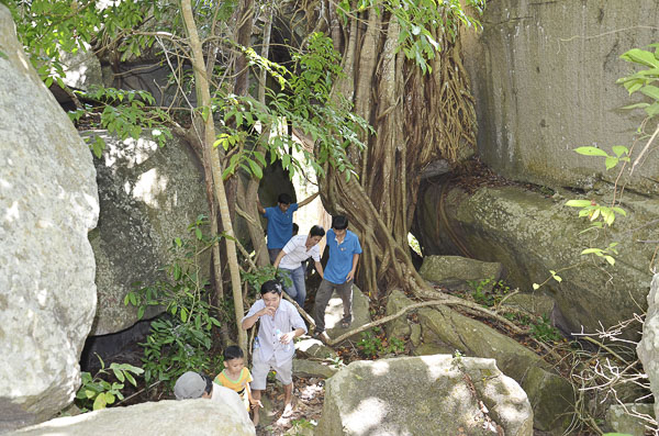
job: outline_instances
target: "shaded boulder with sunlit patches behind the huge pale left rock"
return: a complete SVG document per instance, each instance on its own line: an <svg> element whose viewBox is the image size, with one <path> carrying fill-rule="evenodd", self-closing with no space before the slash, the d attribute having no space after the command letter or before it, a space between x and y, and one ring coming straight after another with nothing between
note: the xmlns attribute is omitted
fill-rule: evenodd
<svg viewBox="0 0 659 436"><path fill-rule="evenodd" d="M108 144L102 159L94 159L101 215L90 235L99 293L92 334L104 335L137 321L136 308L125 306L124 297L134 282L147 286L161 278L158 268L172 260L172 239L187 236L188 225L209 213L202 170L186 144L171 141L159 148L148 137L121 142L104 132L91 134ZM200 259L205 270L208 259Z"/></svg>

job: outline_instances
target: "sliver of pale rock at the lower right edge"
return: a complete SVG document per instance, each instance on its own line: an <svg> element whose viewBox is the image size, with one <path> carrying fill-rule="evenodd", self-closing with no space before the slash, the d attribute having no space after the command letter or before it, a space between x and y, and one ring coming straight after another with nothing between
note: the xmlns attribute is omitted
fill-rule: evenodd
<svg viewBox="0 0 659 436"><path fill-rule="evenodd" d="M659 398L659 273L652 278L648 293L648 312L643 325L643 338L636 347L643 368L650 379L650 390ZM659 401L655 401L655 416L659 416Z"/></svg>

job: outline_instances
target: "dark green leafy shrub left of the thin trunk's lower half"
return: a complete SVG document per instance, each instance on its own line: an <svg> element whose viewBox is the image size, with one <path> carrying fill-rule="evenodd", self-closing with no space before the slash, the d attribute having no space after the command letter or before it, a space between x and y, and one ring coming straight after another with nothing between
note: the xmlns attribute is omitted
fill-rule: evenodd
<svg viewBox="0 0 659 436"><path fill-rule="evenodd" d="M220 327L217 309L210 303L209 281L201 276L200 255L214 241L203 234L208 224L200 215L188 227L187 238L175 238L175 261L165 267L166 280L129 292L124 304L138 308L142 317L148 306L164 306L166 315L152 322L144 344L144 378L171 384L181 373L214 372L221 360L211 356L212 327Z"/></svg>

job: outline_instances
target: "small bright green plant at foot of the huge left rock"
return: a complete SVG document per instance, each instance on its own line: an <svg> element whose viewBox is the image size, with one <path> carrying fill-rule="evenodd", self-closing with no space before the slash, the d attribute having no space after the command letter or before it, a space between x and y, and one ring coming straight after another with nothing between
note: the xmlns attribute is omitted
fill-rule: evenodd
<svg viewBox="0 0 659 436"><path fill-rule="evenodd" d="M124 382L127 380L129 383L136 387L137 382L134 376L139 376L144 372L142 368L130 364L112 362L105 369L103 359L99 355L97 357L101 362L101 369L93 377L89 372L82 372L82 384L76 393L76 404L82 411L98 411L114 404L116 399L123 400L124 396L121 390L124 389ZM114 376L118 381L110 382L105 380L108 376Z"/></svg>

